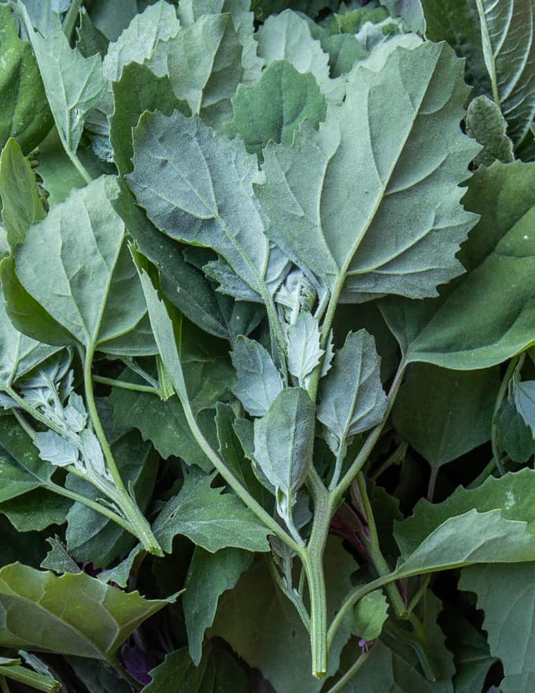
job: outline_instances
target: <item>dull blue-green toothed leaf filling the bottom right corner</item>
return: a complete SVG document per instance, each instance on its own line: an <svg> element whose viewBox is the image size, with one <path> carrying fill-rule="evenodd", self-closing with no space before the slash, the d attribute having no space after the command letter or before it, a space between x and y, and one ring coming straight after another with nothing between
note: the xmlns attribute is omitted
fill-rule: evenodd
<svg viewBox="0 0 535 693"><path fill-rule="evenodd" d="M478 595L491 654L502 660L503 693L529 693L535 681L534 585L534 563L477 565L461 573L459 588Z"/></svg>

